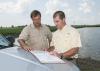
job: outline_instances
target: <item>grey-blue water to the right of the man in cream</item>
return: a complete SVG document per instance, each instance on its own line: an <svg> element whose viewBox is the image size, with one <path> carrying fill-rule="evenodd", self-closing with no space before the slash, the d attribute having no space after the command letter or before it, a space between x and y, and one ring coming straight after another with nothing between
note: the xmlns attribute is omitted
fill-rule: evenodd
<svg viewBox="0 0 100 71"><path fill-rule="evenodd" d="M79 57L100 60L100 27L81 28L78 30L82 41ZM15 41L15 43L19 45L18 42Z"/></svg>

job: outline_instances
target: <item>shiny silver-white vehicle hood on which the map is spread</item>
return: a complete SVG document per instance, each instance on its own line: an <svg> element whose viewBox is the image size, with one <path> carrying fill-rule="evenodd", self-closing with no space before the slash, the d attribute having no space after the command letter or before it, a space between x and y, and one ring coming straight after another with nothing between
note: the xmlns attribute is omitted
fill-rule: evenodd
<svg viewBox="0 0 100 71"><path fill-rule="evenodd" d="M8 43L1 37L4 46ZM1 45L1 44L0 44ZM2 45L2 46L3 46ZM1 47L0 48L4 48ZM18 46L0 49L0 71L80 71L72 62L66 63L40 63L32 53Z"/></svg>

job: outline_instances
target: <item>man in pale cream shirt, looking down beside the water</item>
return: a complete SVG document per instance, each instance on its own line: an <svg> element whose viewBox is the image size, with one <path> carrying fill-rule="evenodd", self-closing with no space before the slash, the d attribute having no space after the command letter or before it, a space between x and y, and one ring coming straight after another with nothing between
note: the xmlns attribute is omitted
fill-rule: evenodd
<svg viewBox="0 0 100 71"><path fill-rule="evenodd" d="M53 33L51 47L48 51L51 50L51 54L60 58L76 57L79 48L82 47L79 32L67 25L64 12L55 12L53 19L58 30Z"/></svg>

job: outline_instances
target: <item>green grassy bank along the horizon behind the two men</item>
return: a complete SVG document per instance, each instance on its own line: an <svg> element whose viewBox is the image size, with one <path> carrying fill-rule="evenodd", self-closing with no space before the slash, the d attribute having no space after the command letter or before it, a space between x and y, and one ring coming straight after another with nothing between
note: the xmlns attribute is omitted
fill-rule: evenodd
<svg viewBox="0 0 100 71"><path fill-rule="evenodd" d="M47 26L50 28L51 32L54 32L57 30L56 26L50 26L50 25L47 25ZM4 36L7 36L7 35L18 36L24 27L25 26L1 27L0 34ZM72 25L72 27L78 29L78 28L85 28L85 27L100 27L100 25Z"/></svg>

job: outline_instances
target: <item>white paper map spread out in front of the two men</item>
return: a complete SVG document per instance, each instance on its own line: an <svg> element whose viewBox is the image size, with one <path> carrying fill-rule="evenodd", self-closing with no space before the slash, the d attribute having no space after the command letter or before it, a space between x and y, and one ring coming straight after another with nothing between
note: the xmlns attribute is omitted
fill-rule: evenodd
<svg viewBox="0 0 100 71"><path fill-rule="evenodd" d="M47 51L31 51L41 63L65 63L60 58L50 55Z"/></svg>

